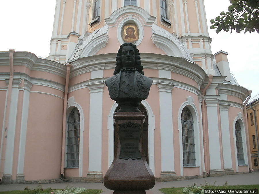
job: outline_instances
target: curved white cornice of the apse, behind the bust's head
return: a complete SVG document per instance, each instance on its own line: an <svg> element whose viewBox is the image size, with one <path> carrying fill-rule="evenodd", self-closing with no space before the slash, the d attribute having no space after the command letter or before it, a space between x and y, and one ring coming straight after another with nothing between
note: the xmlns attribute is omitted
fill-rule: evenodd
<svg viewBox="0 0 259 194"><path fill-rule="evenodd" d="M155 53L140 53L141 63L148 69L168 70L191 78L197 83L205 80L206 73L197 64L182 57L172 57ZM71 62L70 79L83 73L97 69L114 69L116 53L83 57ZM216 79L216 78L215 78Z"/></svg>

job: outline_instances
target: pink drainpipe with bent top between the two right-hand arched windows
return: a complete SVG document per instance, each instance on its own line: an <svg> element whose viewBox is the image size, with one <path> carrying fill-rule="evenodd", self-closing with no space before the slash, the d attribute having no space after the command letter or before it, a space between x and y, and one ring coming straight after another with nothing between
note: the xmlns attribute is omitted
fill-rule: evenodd
<svg viewBox="0 0 259 194"><path fill-rule="evenodd" d="M204 94L205 91L208 89L212 82L213 75L208 75L209 77L209 83L206 85L206 87L202 90L202 101L201 101L201 115L202 115L202 131L203 131L203 149L204 149L204 166L206 171L206 176L208 175L207 172L207 142L206 142L206 128L205 128L205 105L204 105Z"/></svg>

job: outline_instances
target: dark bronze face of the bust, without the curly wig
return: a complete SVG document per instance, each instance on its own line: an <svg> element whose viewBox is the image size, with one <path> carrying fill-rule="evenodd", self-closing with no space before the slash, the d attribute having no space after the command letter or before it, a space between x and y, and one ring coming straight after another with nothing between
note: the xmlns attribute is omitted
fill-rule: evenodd
<svg viewBox="0 0 259 194"><path fill-rule="evenodd" d="M122 67L134 67L135 66L135 51L132 46L124 46L121 50L121 62Z"/></svg>

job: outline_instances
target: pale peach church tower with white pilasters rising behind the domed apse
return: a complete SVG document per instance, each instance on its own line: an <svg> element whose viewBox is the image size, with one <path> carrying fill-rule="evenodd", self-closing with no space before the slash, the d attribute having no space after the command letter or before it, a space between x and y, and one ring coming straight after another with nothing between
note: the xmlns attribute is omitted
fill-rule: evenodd
<svg viewBox="0 0 259 194"><path fill-rule="evenodd" d="M57 0L48 59L66 63L78 43L127 5L154 16L154 24L178 37L195 63L215 74L203 0Z"/></svg>

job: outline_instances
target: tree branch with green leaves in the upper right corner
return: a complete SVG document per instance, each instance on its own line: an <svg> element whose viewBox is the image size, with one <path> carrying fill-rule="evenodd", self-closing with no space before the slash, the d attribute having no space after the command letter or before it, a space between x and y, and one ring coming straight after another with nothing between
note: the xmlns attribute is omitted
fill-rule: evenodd
<svg viewBox="0 0 259 194"><path fill-rule="evenodd" d="M210 20L210 29L216 32L232 30L259 33L259 0L230 0L228 11L222 11L215 20Z"/></svg>

